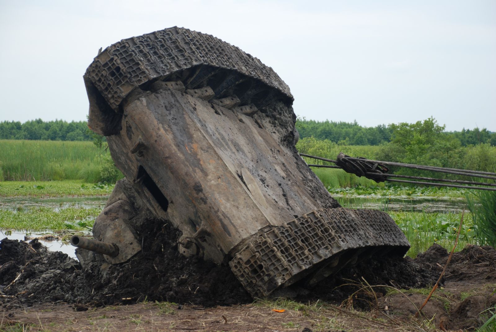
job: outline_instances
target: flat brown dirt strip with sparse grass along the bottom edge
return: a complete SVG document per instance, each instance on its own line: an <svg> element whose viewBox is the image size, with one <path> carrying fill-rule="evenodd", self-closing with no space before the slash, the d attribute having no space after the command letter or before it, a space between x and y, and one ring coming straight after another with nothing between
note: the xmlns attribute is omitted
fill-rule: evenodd
<svg viewBox="0 0 496 332"><path fill-rule="evenodd" d="M264 305L202 308L141 303L75 311L72 305L45 305L4 313L3 331L422 331L424 319L400 320L384 311L357 312L328 305L305 305L274 312ZM424 325L424 329L422 326Z"/></svg>

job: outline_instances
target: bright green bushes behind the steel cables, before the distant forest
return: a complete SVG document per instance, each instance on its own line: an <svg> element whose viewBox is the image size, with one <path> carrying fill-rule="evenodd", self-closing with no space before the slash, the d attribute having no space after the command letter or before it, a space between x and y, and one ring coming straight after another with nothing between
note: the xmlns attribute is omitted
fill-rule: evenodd
<svg viewBox="0 0 496 332"><path fill-rule="evenodd" d="M333 142L330 139L318 139L314 136L303 137L298 141L297 148L302 153L316 155L324 158L335 159L337 153L344 152L353 157L366 157L375 160L386 160L417 165L430 165L437 167L450 167L460 169L475 169L494 172L496 167L496 146L489 141L477 143L475 130L446 133L444 126L437 123L434 118L418 121L414 124L400 123L388 126L391 130L390 140L372 148L371 145L346 146ZM479 133L488 133L479 130ZM464 133L464 135L460 135ZM474 134L474 136L472 136ZM489 136L494 135L490 133ZM460 138L465 140L463 146ZM473 140L470 140L473 139ZM472 142L475 142L473 144ZM365 148L365 150L364 150ZM312 160L313 163L320 163ZM429 171L388 167L390 173L439 177ZM460 178L456 175L446 174L446 178ZM464 179L467 180L467 179Z"/></svg>

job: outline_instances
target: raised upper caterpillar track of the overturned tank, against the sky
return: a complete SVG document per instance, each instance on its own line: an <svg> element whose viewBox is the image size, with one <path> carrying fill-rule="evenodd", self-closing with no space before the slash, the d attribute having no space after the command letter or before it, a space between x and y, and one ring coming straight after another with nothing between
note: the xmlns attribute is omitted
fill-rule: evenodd
<svg viewBox="0 0 496 332"><path fill-rule="evenodd" d="M237 95L241 105L293 102L288 85L260 60L212 35L172 27L107 47L85 78L114 111L133 89L157 80L181 80L186 89L213 88L216 98Z"/></svg>

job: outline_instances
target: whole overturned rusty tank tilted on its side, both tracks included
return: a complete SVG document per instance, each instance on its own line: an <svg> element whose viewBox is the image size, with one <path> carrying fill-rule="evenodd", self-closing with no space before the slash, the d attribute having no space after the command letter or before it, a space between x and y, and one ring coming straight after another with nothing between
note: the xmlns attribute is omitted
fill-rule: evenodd
<svg viewBox="0 0 496 332"><path fill-rule="evenodd" d="M252 296L408 250L389 215L328 194L295 148L288 86L237 47L173 27L108 47L84 80L88 125L125 175L93 228L109 263L140 251L134 229L152 217L182 232L182 254L229 264Z"/></svg>

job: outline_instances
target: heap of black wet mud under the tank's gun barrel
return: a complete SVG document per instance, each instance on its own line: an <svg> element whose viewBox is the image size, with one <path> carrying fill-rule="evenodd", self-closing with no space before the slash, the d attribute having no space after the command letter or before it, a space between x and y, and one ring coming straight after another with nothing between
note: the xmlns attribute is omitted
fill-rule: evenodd
<svg viewBox="0 0 496 332"><path fill-rule="evenodd" d="M9 305L66 302L91 305L148 300L203 306L248 303L251 297L228 266L185 258L177 250L179 232L156 220L147 223L151 242L126 263L103 259L85 265L61 252L4 239L0 243L0 291ZM101 268L108 266L108 268ZM15 282L14 282L15 280Z"/></svg>

